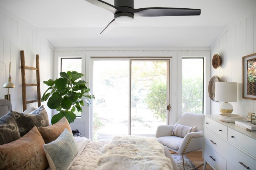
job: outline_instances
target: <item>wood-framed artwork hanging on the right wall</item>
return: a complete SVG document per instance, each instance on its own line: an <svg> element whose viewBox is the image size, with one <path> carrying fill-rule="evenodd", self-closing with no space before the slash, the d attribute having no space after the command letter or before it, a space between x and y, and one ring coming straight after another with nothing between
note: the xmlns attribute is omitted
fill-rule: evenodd
<svg viewBox="0 0 256 170"><path fill-rule="evenodd" d="M256 100L256 53L243 57L243 99Z"/></svg>

